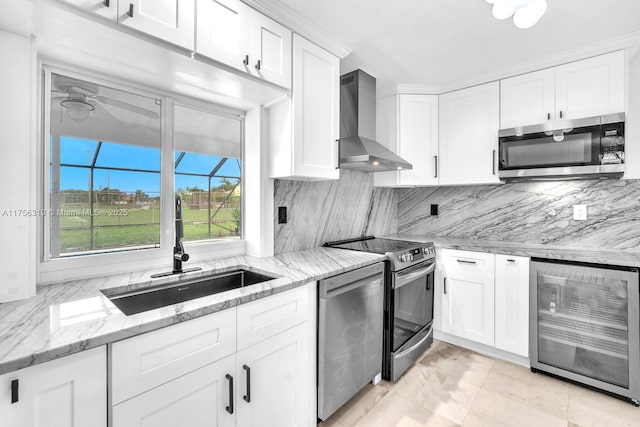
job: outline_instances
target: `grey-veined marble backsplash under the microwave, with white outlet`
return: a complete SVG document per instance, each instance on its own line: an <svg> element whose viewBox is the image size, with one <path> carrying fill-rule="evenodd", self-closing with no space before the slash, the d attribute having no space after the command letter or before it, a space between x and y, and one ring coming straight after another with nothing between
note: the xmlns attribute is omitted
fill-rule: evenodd
<svg viewBox="0 0 640 427"><path fill-rule="evenodd" d="M584 249L640 250L640 181L399 189L398 232ZM430 215L437 204L439 215ZM587 220L573 206L587 206Z"/></svg>

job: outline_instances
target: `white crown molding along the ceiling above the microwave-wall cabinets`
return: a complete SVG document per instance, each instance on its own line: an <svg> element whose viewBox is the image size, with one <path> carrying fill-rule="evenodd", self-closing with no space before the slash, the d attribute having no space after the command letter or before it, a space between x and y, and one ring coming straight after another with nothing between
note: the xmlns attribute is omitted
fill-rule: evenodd
<svg viewBox="0 0 640 427"><path fill-rule="evenodd" d="M602 55L616 50L627 49L630 52L636 51L640 46L640 31L625 34L619 37L602 40L579 48L566 50L553 55L544 56L531 61L522 62L509 67L503 67L488 73L480 74L471 79L457 80L444 83L439 86L439 94L452 92L492 81L513 77L544 68L555 67L568 62L579 61L592 56ZM400 86L400 85L398 85Z"/></svg>

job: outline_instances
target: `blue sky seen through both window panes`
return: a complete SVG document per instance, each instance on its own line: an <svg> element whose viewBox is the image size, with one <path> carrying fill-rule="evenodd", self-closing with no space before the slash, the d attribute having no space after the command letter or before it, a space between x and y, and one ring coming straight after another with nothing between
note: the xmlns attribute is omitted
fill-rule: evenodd
<svg viewBox="0 0 640 427"><path fill-rule="evenodd" d="M88 166L98 147L97 141L62 137L60 138L60 163ZM180 153L175 153L175 159ZM176 190L197 186L206 189L208 178L179 175L180 172L208 174L221 160L220 157L187 153L180 161L175 177ZM144 169L154 172L130 172L97 169L94 172L94 190L102 188L119 189L126 193L142 190L150 196L160 193L160 149L103 142L96 161L96 167L108 166L128 169ZM87 190L89 186L88 168L62 167L60 176L61 190ZM217 172L222 176L240 176L238 159L229 159ZM213 179L212 186L220 180ZM232 180L232 182L234 182Z"/></svg>

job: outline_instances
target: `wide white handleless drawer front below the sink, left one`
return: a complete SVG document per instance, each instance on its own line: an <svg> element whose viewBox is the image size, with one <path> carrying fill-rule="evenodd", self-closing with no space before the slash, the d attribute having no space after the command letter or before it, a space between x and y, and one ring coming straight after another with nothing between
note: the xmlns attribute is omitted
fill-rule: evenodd
<svg viewBox="0 0 640 427"><path fill-rule="evenodd" d="M112 402L116 405L235 350L235 308L115 342Z"/></svg>

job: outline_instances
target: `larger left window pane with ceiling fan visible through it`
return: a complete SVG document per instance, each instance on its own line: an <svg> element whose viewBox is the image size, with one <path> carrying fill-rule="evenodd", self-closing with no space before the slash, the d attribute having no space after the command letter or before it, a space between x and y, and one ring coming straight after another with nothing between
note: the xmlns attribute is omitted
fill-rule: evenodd
<svg viewBox="0 0 640 427"><path fill-rule="evenodd" d="M160 245L160 104L51 74L50 258Z"/></svg>

